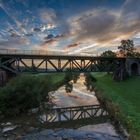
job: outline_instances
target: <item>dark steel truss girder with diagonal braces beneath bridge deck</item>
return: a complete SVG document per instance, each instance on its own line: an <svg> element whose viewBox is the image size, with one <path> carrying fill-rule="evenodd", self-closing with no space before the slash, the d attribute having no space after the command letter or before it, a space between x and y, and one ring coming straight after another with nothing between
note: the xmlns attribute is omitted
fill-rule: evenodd
<svg viewBox="0 0 140 140"><path fill-rule="evenodd" d="M30 61L30 64L29 64ZM38 62L39 61L39 62ZM125 60L120 58L106 59L100 57L2 57L0 56L0 68L12 73L21 72L64 72L67 69L77 72L106 72L114 71ZM51 68L50 68L51 67Z"/></svg>

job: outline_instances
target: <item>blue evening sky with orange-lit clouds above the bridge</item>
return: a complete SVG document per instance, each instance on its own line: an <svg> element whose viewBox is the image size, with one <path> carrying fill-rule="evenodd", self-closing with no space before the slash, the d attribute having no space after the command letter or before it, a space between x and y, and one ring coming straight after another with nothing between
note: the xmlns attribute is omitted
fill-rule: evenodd
<svg viewBox="0 0 140 140"><path fill-rule="evenodd" d="M60 53L140 50L140 0L0 0L0 49Z"/></svg>

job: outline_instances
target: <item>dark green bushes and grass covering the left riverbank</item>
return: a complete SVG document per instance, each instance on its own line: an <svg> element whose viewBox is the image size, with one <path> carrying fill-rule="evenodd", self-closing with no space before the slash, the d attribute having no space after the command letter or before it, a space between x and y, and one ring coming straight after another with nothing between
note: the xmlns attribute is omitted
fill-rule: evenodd
<svg viewBox="0 0 140 140"><path fill-rule="evenodd" d="M57 90L77 74L23 74L0 88L0 115L17 116L48 101L48 92Z"/></svg>

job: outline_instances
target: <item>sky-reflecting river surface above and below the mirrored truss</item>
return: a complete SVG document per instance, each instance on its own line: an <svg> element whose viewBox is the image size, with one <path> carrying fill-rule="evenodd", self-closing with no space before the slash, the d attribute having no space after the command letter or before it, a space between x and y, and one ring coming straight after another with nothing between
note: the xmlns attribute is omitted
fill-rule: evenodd
<svg viewBox="0 0 140 140"><path fill-rule="evenodd" d="M73 81L71 81L73 83ZM76 83L73 83L73 90L67 93L65 86L60 87L57 91L51 92L51 102L56 107L99 105L99 101L95 96L95 92L87 91L84 84L84 74L80 74ZM46 116L45 116L46 117ZM46 124L47 125L47 124ZM114 126L107 121L101 124L89 124L79 126L78 128L55 128L55 129L38 129L31 127L30 131L26 131L24 135L20 135L17 140L122 140L121 136L116 132ZM24 130L25 131L25 128ZM16 133L16 131L14 132ZM15 140L14 134L10 135L9 140ZM12 139L13 138L13 139ZM1 137L0 140L6 140Z"/></svg>

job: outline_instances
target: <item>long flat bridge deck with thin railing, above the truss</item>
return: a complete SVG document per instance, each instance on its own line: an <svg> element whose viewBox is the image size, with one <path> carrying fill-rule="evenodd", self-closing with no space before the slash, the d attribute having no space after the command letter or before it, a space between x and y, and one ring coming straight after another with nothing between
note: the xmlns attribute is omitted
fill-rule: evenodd
<svg viewBox="0 0 140 140"><path fill-rule="evenodd" d="M42 59L42 58L54 58L54 59L125 59L125 58L107 58L100 57L98 54L69 54L68 52L55 52L55 51L43 51L43 50L8 50L8 49L0 49L0 57L9 57L9 58L34 58L34 59Z"/></svg>

